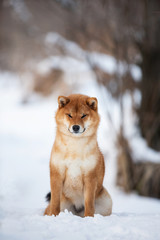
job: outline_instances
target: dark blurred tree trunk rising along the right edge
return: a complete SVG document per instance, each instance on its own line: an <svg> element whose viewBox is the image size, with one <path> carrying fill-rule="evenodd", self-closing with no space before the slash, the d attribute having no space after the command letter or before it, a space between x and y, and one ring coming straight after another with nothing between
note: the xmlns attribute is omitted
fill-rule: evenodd
<svg viewBox="0 0 160 240"><path fill-rule="evenodd" d="M145 37L139 45L142 55L139 123L148 145L160 150L160 2L144 2Z"/></svg>

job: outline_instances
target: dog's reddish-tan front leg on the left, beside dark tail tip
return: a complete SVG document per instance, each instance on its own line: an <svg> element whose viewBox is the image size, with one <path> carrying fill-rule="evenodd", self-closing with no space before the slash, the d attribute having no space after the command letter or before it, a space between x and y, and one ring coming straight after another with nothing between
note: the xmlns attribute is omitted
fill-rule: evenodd
<svg viewBox="0 0 160 240"><path fill-rule="evenodd" d="M60 213L62 177L54 166L50 167L50 184L51 184L51 202L49 215L54 214L56 216Z"/></svg>

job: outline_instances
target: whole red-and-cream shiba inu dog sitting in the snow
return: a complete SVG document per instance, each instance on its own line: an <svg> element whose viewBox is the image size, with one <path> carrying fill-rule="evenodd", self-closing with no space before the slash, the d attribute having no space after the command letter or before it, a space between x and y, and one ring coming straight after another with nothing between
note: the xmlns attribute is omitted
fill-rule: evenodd
<svg viewBox="0 0 160 240"><path fill-rule="evenodd" d="M44 215L68 209L78 216L110 215L103 187L104 158L97 143L98 103L94 97L58 97L57 132L50 158L50 200Z"/></svg>

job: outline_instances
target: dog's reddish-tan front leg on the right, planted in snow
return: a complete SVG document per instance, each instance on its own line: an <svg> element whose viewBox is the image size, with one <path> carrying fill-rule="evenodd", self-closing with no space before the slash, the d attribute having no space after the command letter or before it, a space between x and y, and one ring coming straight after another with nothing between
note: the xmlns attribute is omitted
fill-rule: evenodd
<svg viewBox="0 0 160 240"><path fill-rule="evenodd" d="M84 182L84 201L85 201L85 212L84 216L94 216L95 212L95 191L96 191L96 180L90 175L85 178Z"/></svg>

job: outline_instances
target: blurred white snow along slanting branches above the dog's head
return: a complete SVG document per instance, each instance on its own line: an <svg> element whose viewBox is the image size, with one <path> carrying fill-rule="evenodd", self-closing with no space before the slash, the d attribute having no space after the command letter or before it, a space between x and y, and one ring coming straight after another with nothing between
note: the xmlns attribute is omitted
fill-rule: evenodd
<svg viewBox="0 0 160 240"><path fill-rule="evenodd" d="M120 76L123 76L129 70L136 82L139 82L141 80L141 69L137 65L128 65L124 61L117 62L114 57L107 54L85 51L78 44L66 40L58 33L49 32L45 37L45 45L47 48L59 47L60 49L63 49L63 52L65 52L66 55L70 56L70 58L68 59L66 56L49 57L39 63L39 70L43 69L43 66L45 66L45 71L47 70L46 66L48 66L49 69L51 67L56 68L57 61L62 61L62 64L59 64L58 68L64 70L64 64L67 62L65 65L67 66L66 71L70 71L70 69L73 69L74 71L81 71L81 65L83 65L84 68L86 66L87 69L96 66L104 72L107 72L109 74L118 73ZM76 65L72 63L70 64L69 61L76 62Z"/></svg>

